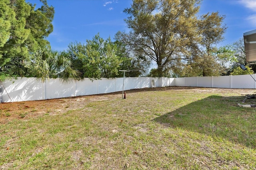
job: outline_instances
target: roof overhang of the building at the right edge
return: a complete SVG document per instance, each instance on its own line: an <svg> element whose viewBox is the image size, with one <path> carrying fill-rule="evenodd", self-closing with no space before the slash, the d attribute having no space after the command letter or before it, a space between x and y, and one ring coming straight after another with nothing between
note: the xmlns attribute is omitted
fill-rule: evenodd
<svg viewBox="0 0 256 170"><path fill-rule="evenodd" d="M246 62L256 64L256 30L244 33Z"/></svg>

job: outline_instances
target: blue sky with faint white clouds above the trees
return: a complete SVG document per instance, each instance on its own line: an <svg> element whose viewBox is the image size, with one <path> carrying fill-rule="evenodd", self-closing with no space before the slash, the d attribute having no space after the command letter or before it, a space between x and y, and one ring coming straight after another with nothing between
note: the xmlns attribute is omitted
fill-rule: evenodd
<svg viewBox="0 0 256 170"><path fill-rule="evenodd" d="M39 0L26 0L40 5ZM123 12L132 0L47 0L55 10L54 31L48 36L52 49L62 51L71 42L85 43L96 34L104 39L114 38L118 31L128 32ZM200 12L219 12L225 15L228 27L225 40L218 46L228 45L243 38L243 33L256 29L256 0L202 0Z"/></svg>

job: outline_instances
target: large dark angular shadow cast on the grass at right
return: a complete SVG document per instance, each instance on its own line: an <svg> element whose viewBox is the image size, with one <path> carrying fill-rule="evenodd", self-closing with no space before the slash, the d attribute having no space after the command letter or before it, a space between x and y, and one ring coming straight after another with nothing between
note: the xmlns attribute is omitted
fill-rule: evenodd
<svg viewBox="0 0 256 170"><path fill-rule="evenodd" d="M241 96L213 95L166 113L154 121L256 147L256 109L238 107L237 104L243 99Z"/></svg>

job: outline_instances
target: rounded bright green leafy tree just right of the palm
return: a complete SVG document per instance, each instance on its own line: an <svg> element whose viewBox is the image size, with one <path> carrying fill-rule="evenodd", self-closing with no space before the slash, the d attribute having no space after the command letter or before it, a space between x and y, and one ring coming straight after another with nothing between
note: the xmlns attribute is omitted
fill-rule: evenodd
<svg viewBox="0 0 256 170"><path fill-rule="evenodd" d="M110 38L104 40L99 34L86 40L86 44L70 43L68 53L81 78L116 77L123 62L117 44Z"/></svg>

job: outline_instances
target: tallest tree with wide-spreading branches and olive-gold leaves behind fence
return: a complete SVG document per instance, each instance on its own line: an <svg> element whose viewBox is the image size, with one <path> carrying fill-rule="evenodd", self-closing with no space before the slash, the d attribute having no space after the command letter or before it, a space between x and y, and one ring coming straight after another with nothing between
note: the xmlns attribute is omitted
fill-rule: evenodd
<svg viewBox="0 0 256 170"><path fill-rule="evenodd" d="M163 76L170 68L177 67L182 60L193 59L198 53L200 43L216 43L222 36L220 27L222 17L218 13L197 17L200 0L133 0L131 8L124 12L129 15L125 20L129 34L123 34L122 41L136 53L151 59L158 65L158 75ZM212 18L220 28L210 35L202 30L202 23ZM220 19L217 21L217 19ZM219 24L220 23L220 24ZM205 35L211 36L205 36ZM209 41L208 39L211 39Z"/></svg>

